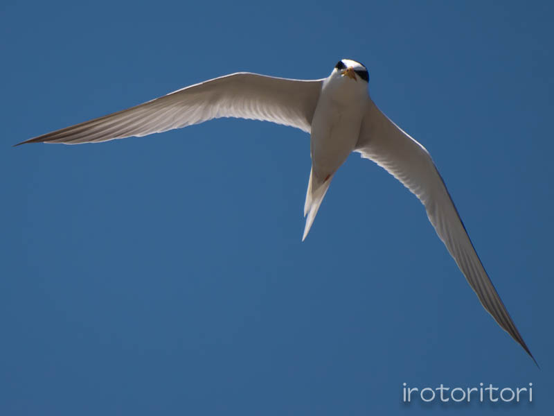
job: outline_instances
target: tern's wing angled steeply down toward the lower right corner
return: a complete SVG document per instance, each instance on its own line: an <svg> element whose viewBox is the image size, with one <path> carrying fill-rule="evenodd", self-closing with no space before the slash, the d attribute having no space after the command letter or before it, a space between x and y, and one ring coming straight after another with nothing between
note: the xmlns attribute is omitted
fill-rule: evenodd
<svg viewBox="0 0 554 416"><path fill-rule="evenodd" d="M533 358L467 235L427 150L370 101L355 151L400 180L425 206L433 227L492 318ZM535 358L533 358L534 360Z"/></svg>

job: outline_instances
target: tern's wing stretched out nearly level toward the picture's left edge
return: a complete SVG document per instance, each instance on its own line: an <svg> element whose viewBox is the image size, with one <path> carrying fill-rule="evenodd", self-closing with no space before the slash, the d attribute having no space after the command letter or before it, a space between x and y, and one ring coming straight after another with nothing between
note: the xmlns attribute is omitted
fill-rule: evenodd
<svg viewBox="0 0 554 416"><path fill-rule="evenodd" d="M233 73L20 144L79 144L145 136L220 117L273 121L310 132L322 83Z"/></svg>

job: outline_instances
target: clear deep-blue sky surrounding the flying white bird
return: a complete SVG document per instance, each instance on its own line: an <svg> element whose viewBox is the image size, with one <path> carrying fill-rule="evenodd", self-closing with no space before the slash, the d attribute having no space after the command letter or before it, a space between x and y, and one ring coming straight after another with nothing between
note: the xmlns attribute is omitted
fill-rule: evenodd
<svg viewBox="0 0 554 416"><path fill-rule="evenodd" d="M0 4L1 415L551 413L551 2ZM310 139L222 119L24 139L235 71L370 94L427 147L541 370L418 200L352 155L301 243ZM533 383L533 403L402 404Z"/></svg>

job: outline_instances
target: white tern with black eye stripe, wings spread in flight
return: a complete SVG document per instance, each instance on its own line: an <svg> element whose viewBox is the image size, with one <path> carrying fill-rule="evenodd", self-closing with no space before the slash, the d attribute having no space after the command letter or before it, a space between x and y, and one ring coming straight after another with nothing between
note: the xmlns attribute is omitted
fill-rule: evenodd
<svg viewBox="0 0 554 416"><path fill-rule="evenodd" d="M361 153L420 199L483 307L533 358L485 272L431 156L377 108L369 96L368 82L366 67L349 59L339 60L330 76L319 80L232 73L19 144L80 144L140 137L220 117L273 121L299 128L311 135L312 156L303 240L334 173L350 153Z"/></svg>

